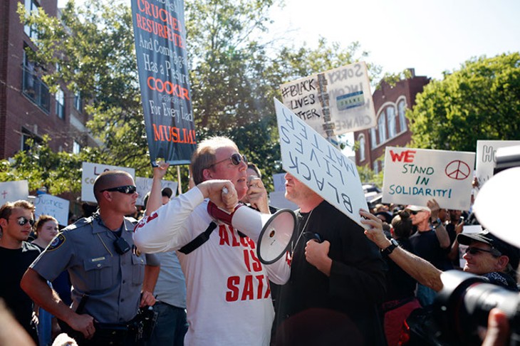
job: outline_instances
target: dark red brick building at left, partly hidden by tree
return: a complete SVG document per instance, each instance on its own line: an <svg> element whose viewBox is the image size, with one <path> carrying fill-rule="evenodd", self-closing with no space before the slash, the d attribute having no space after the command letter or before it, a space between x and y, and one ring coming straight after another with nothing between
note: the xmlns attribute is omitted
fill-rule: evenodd
<svg viewBox="0 0 520 346"><path fill-rule="evenodd" d="M27 58L24 48L35 49L31 38L36 32L20 23L19 2L27 11L42 6L47 14L59 15L57 0L0 1L0 159L26 149L28 137L38 142L49 135L54 151L77 153L95 145L85 128L88 117L80 95L63 85L50 93L41 80L44 68Z"/></svg>

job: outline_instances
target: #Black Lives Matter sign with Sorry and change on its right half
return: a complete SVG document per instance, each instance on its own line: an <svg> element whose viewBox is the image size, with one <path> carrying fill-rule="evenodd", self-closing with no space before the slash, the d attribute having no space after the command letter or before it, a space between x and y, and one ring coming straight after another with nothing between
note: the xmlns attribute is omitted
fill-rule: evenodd
<svg viewBox="0 0 520 346"><path fill-rule="evenodd" d="M333 135L374 127L375 108L364 62L280 85L284 105L323 137L330 113Z"/></svg>

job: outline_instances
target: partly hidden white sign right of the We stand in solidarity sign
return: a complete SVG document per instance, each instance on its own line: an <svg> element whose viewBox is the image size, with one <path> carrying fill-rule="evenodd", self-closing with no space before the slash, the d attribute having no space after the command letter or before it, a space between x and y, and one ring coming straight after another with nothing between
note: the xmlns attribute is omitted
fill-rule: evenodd
<svg viewBox="0 0 520 346"><path fill-rule="evenodd" d="M477 169L475 171L479 179L479 187L493 177L496 150L514 145L520 145L520 140L477 140Z"/></svg>

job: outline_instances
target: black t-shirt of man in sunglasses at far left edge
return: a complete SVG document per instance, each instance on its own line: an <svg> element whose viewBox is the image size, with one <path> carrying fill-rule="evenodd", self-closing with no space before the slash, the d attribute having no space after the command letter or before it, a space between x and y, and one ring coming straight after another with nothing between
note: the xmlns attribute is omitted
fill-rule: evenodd
<svg viewBox="0 0 520 346"><path fill-rule="evenodd" d="M31 330L33 302L21 289L20 281L39 254L38 246L26 241L17 249L0 246L0 297L4 298L7 308L26 330Z"/></svg>

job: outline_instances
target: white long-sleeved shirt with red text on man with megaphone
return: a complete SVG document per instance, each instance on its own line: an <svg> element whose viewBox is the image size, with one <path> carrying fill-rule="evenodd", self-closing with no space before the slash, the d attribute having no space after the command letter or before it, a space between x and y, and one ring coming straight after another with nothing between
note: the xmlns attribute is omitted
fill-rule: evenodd
<svg viewBox="0 0 520 346"><path fill-rule="evenodd" d="M146 253L177 250L207 229L212 218L196 187L137 224L134 241ZM256 243L219 224L192 253L177 251L186 278L186 345L269 345L274 308L269 279L283 284L290 268L282 257L269 266ZM269 277L268 277L269 276Z"/></svg>

